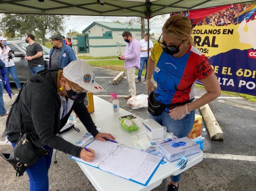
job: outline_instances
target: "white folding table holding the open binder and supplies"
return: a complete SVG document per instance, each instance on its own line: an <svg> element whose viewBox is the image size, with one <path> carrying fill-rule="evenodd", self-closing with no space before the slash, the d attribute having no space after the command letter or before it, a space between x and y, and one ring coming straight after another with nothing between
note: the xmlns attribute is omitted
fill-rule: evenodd
<svg viewBox="0 0 256 191"><path fill-rule="evenodd" d="M129 115L131 113L120 108L119 114L113 114L111 103L97 96L93 96L93 100L95 112L91 114L91 117L95 125L97 127L102 128L100 132L111 133L116 138L115 140L119 143L123 143L124 146L141 150L140 146L133 144L133 142L127 135L126 131L118 123L118 117ZM138 119L142 120L141 118ZM61 134L61 137L74 144L79 138L82 138L82 136L87 132L87 130L79 120L77 120L75 127L78 127L80 129L80 132L71 129L70 131ZM203 159L203 152L200 150L199 153L191 155L187 158L187 166L182 170L175 166L175 164L178 161L172 162L164 166L160 165L147 186L137 184L130 180L121 178L114 174L105 172L103 170L91 167L80 162L77 162L77 164L83 170L83 172L85 173L85 175L97 191L149 191L159 186L162 183L162 181L163 188L164 190L166 190L166 178L170 175L178 175L179 173L201 162Z"/></svg>

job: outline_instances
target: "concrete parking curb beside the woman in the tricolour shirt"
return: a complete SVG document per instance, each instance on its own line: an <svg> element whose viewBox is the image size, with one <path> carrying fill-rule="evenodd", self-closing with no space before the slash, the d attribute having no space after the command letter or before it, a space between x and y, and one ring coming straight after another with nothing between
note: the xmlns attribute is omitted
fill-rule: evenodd
<svg viewBox="0 0 256 191"><path fill-rule="evenodd" d="M223 132L208 104L199 108L211 141L223 141Z"/></svg>

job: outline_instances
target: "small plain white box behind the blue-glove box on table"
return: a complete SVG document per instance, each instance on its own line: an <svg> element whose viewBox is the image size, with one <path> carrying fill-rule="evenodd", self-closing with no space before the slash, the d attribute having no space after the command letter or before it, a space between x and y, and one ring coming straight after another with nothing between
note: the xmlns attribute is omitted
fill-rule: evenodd
<svg viewBox="0 0 256 191"><path fill-rule="evenodd" d="M145 119L142 124L144 131L151 140L164 138L164 127L154 119Z"/></svg>

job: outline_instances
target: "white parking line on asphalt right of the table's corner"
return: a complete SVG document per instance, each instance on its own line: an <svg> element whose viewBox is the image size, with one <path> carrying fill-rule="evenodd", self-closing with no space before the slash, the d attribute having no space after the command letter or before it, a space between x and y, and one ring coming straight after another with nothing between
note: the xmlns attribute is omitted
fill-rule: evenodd
<svg viewBox="0 0 256 191"><path fill-rule="evenodd" d="M203 153L203 158L208 159L228 159L228 160L240 160L240 161L256 161L254 156L245 156L245 155L229 155L229 154L211 154Z"/></svg>

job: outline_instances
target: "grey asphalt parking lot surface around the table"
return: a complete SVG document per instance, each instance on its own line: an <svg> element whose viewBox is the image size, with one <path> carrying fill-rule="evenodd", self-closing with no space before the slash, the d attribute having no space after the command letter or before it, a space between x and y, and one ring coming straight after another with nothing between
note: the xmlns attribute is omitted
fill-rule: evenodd
<svg viewBox="0 0 256 191"><path fill-rule="evenodd" d="M117 85L112 85L113 78L118 71L93 67L96 79L104 91L95 95L104 100L109 100L110 93L128 95L128 83L125 78ZM15 84L11 84L12 90L18 93ZM137 95L147 94L145 83L136 84ZM196 96L201 96L205 91L195 90ZM5 95L6 109L14 98ZM42 98L44 99L44 98ZM120 107L146 119L147 109L132 110L124 97L118 98ZM180 191L255 191L256 188L256 103L246 99L232 98L221 95L220 98L209 103L209 106L224 133L224 141L210 141L206 131L202 131L204 137L204 149L206 154L203 161L186 170L181 177ZM199 110L196 110L197 114ZM5 128L7 117L0 118L0 134ZM202 129L205 128L202 122ZM4 138L0 138L0 153L11 152L11 145L4 144ZM210 157L209 157L210 156ZM69 155L58 152L58 163L52 163L49 170L49 190L51 191L93 191L95 190L79 166ZM29 190L28 176L17 178L15 171L7 162L0 158L0 191L26 191ZM170 179L169 179L170 180ZM122 190L113 188L113 191ZM153 191L160 191L161 187Z"/></svg>

